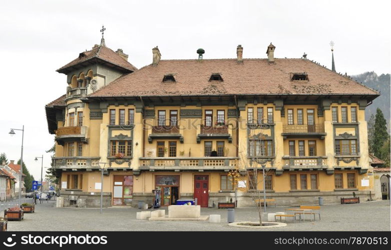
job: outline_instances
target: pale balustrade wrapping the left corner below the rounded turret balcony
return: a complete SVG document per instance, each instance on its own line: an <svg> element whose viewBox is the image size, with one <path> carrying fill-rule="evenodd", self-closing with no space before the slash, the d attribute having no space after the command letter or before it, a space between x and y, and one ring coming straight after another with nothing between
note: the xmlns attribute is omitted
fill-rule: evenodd
<svg viewBox="0 0 391 250"><path fill-rule="evenodd" d="M98 162L101 157L67 156L54 157L54 168L99 168Z"/></svg>

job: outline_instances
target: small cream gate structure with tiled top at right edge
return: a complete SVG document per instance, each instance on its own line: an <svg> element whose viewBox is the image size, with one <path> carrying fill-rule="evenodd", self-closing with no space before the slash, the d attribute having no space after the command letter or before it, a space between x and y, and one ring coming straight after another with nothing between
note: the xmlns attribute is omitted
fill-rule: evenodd
<svg viewBox="0 0 391 250"><path fill-rule="evenodd" d="M370 165L373 166L373 188L375 199L389 199L390 168L383 167L385 162L369 153Z"/></svg>

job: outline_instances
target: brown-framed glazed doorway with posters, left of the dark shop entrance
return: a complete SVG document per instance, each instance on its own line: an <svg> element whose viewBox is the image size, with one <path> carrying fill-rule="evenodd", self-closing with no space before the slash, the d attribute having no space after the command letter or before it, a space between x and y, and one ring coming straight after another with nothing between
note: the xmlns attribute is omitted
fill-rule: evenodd
<svg viewBox="0 0 391 250"><path fill-rule="evenodd" d="M114 175L113 205L132 205L133 175Z"/></svg>

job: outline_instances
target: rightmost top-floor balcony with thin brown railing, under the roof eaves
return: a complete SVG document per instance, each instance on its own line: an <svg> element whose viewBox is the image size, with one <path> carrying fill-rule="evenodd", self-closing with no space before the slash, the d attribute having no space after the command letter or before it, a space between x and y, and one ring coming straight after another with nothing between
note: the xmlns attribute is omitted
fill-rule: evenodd
<svg viewBox="0 0 391 250"><path fill-rule="evenodd" d="M324 124L283 124L281 135L287 137L320 137L324 139Z"/></svg>

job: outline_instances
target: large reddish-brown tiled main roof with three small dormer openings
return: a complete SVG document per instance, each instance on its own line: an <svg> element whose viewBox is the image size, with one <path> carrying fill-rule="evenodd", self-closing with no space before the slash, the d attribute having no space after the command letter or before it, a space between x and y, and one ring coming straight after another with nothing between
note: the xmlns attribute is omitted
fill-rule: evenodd
<svg viewBox="0 0 391 250"><path fill-rule="evenodd" d="M292 72L306 72L309 81L291 81ZM220 73L222 82L210 82ZM175 74L176 82L162 82L165 74ZM126 74L89 96L164 95L294 95L365 94L379 95L349 77L307 59L187 59L160 60Z"/></svg>

